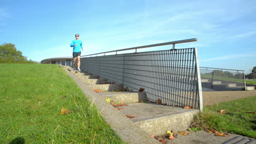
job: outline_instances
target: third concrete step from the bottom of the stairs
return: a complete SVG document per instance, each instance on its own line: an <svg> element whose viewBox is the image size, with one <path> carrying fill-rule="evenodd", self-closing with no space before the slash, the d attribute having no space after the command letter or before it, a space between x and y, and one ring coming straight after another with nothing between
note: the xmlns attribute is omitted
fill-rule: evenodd
<svg viewBox="0 0 256 144"><path fill-rule="evenodd" d="M95 84L95 85L86 85L92 89L99 89L101 91L117 91L123 87L123 84L116 83L116 84Z"/></svg>

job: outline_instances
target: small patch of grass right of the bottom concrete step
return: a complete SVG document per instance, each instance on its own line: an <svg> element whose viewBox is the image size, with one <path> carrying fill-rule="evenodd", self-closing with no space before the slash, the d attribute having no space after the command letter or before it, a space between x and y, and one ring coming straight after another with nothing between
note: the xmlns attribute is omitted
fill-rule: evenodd
<svg viewBox="0 0 256 144"><path fill-rule="evenodd" d="M256 137L256 96L205 106L192 127ZM225 114L220 111L224 110Z"/></svg>

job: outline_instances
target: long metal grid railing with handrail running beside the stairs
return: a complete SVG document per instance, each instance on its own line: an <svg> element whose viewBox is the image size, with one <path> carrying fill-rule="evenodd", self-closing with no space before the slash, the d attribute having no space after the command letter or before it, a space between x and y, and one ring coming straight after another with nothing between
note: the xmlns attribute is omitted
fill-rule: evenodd
<svg viewBox="0 0 256 144"><path fill-rule="evenodd" d="M197 39L131 47L82 56L82 70L104 79L123 83L133 91L144 88L150 101L161 99L171 106L193 106L202 110L200 69L196 48L174 49L175 44ZM173 45L170 50L137 52L137 49ZM135 50L118 54L118 51ZM116 52L115 55L105 55ZM104 54L104 56L98 56ZM92 57L94 56L94 57Z"/></svg>

